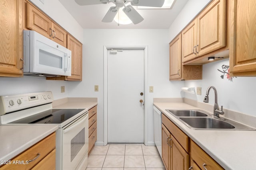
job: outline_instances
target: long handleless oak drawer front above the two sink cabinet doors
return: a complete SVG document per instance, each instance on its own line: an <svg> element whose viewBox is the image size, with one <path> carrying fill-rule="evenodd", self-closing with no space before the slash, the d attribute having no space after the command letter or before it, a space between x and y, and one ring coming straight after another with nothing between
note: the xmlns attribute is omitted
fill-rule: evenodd
<svg viewBox="0 0 256 170"><path fill-rule="evenodd" d="M189 152L189 137L182 132L170 119L168 119L164 114L162 114L162 123L170 131L170 133L176 138L178 143Z"/></svg>

